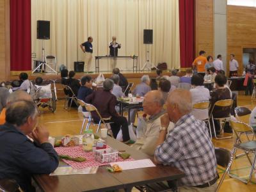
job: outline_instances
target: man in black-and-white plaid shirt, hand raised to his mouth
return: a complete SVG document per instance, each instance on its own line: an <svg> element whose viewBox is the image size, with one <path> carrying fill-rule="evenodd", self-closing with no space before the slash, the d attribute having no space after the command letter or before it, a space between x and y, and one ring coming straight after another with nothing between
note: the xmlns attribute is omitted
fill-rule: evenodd
<svg viewBox="0 0 256 192"><path fill-rule="evenodd" d="M178 180L179 191L215 191L216 157L207 125L191 115L192 99L188 90L177 89L166 102L161 118L155 161L170 164L186 174ZM169 123L174 129L166 136Z"/></svg>

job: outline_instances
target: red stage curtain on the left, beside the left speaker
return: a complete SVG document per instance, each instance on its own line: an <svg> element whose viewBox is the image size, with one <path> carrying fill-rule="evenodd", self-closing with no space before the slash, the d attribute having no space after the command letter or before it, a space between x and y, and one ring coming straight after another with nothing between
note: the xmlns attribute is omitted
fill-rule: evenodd
<svg viewBox="0 0 256 192"><path fill-rule="evenodd" d="M10 0L11 70L31 70L31 0Z"/></svg>

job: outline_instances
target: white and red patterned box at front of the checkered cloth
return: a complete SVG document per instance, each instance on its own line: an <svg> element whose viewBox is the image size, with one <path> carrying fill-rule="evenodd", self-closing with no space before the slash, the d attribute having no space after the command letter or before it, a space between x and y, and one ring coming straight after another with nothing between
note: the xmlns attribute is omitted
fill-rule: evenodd
<svg viewBox="0 0 256 192"><path fill-rule="evenodd" d="M118 157L118 151L113 148L104 148L95 150L95 160L100 163L115 162Z"/></svg>

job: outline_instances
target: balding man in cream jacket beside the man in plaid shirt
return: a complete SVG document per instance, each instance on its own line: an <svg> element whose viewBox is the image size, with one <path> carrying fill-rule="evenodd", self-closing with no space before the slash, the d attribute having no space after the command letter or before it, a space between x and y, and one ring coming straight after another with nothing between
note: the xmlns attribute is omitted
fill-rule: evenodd
<svg viewBox="0 0 256 192"><path fill-rule="evenodd" d="M145 118L145 126L142 127L143 130L141 130L142 134L136 143L132 145L132 148L141 150L141 152L144 152L149 156L154 155L156 141L159 137L161 128L160 118L166 113L163 109L163 105L164 99L161 92L154 90L145 95L143 100L143 111L149 115L149 117L147 119ZM137 129L139 129L139 127L137 127Z"/></svg>

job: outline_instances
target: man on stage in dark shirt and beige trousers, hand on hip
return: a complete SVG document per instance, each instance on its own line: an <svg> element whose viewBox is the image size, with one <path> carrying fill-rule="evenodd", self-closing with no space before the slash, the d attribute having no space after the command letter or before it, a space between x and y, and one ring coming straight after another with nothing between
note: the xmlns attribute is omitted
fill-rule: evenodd
<svg viewBox="0 0 256 192"><path fill-rule="evenodd" d="M80 45L81 49L85 53L84 67L85 67L85 70L87 70L87 72L89 72L91 68L91 63L92 63L92 52L93 52L92 42L93 42L93 38L92 36L89 36L88 41Z"/></svg>

